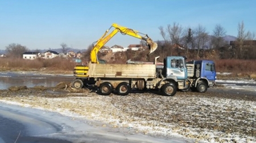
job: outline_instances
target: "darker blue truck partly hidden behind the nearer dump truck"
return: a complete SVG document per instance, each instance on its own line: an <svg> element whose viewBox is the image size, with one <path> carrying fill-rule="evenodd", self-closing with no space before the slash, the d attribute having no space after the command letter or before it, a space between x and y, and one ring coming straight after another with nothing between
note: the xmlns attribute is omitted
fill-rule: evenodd
<svg viewBox="0 0 256 143"><path fill-rule="evenodd" d="M212 60L192 60L186 63L186 67L189 86L181 91L188 92L191 89L204 93L209 87L214 86L216 70Z"/></svg>

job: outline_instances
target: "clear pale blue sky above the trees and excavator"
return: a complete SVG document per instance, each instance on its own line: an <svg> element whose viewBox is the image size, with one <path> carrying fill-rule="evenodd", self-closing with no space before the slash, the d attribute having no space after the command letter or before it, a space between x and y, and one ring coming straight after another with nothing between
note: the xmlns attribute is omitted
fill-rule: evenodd
<svg viewBox="0 0 256 143"><path fill-rule="evenodd" d="M256 1L234 0L0 0L0 49L21 44L28 49L56 49L61 43L86 49L117 23L163 40L159 27L174 22L183 28L203 25L212 34L216 24L237 36L238 23L256 32ZM118 33L106 46L139 44Z"/></svg>

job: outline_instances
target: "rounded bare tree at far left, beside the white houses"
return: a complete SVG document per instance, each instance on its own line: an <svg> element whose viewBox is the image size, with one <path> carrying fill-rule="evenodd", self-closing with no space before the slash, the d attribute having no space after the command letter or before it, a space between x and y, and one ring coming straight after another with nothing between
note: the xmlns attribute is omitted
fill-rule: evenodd
<svg viewBox="0 0 256 143"><path fill-rule="evenodd" d="M26 51L29 51L29 49L26 46L13 43L13 44L10 44L9 46L6 46L6 51L9 57L22 58L22 54Z"/></svg>

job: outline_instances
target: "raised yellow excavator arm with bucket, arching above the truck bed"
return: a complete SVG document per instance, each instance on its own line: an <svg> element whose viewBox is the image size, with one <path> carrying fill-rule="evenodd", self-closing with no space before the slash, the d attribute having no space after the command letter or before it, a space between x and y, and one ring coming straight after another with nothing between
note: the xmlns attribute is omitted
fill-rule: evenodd
<svg viewBox="0 0 256 143"><path fill-rule="evenodd" d="M111 28L114 28L114 30L111 33L109 33L109 30ZM146 41L146 44L150 49L150 53L148 54L151 54L158 47L158 45L154 41L152 41L150 37L147 36L147 34L143 34L133 29L122 27L118 24L113 23L112 26L109 29L107 29L106 32L101 36L101 38L96 42L96 44L93 45L93 49L90 52L90 60L92 63L99 63L97 59L98 51L106 44L106 42L108 42L118 32ZM141 36L141 34L143 36Z"/></svg>

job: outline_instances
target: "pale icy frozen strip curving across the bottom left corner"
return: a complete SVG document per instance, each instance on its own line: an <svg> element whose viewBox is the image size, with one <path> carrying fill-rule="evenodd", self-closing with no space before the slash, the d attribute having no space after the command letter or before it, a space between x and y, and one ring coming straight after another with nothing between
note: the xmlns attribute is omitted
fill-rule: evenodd
<svg viewBox="0 0 256 143"><path fill-rule="evenodd" d="M20 108L19 103L1 103L0 115L12 120L18 120L18 122L24 124L26 128L24 131L20 132L26 132L28 135L38 138L37 140L34 139L32 142L48 142L46 138L59 138L76 143L187 142L179 138L172 138L172 140L167 141L164 138L154 138L146 135L135 135L117 131L112 132L108 127L98 127L96 123L92 125L88 120L80 118L79 115L71 112L59 114L57 112L30 107ZM14 135L15 138L17 136L18 133ZM26 140L26 138L26 136L21 135L18 137L18 142L24 142L24 140L30 142ZM51 142L56 143L56 141ZM1 136L0 142L5 143L5 141L1 140Z"/></svg>

